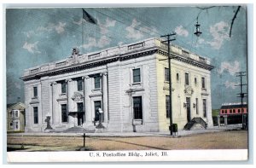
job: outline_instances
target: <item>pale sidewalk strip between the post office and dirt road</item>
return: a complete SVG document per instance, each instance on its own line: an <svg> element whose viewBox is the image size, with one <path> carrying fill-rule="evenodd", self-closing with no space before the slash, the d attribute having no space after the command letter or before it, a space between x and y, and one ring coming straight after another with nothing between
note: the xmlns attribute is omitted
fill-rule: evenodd
<svg viewBox="0 0 256 168"><path fill-rule="evenodd" d="M214 126L212 128L207 128L205 130L178 130L177 136L189 136L202 133L212 133L218 131L226 130L241 130L241 125L226 125L226 126ZM64 133L64 132L24 132L24 133L9 133L7 136L83 136L84 133ZM103 132L103 133L85 133L85 136L119 136L119 137L128 137L128 136L170 136L170 131L165 132Z"/></svg>

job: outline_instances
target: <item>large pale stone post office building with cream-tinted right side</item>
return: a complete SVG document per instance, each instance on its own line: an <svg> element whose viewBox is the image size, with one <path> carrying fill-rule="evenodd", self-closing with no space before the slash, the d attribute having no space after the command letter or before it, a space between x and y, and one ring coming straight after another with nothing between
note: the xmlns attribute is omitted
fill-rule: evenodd
<svg viewBox="0 0 256 168"><path fill-rule="evenodd" d="M201 117L212 126L210 61L176 45L171 50L173 123L183 129ZM150 38L83 55L73 49L65 60L25 70L26 131L44 131L47 113L55 130L94 130L100 120L107 131L168 130L166 58L166 45Z"/></svg>

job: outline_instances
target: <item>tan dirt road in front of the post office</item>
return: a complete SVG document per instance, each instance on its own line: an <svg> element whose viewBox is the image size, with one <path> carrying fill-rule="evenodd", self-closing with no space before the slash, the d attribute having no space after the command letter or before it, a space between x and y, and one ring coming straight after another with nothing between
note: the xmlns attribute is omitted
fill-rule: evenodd
<svg viewBox="0 0 256 168"><path fill-rule="evenodd" d="M82 136L8 136L8 151L75 151ZM191 136L87 137L88 150L246 149L247 131L233 130Z"/></svg>

